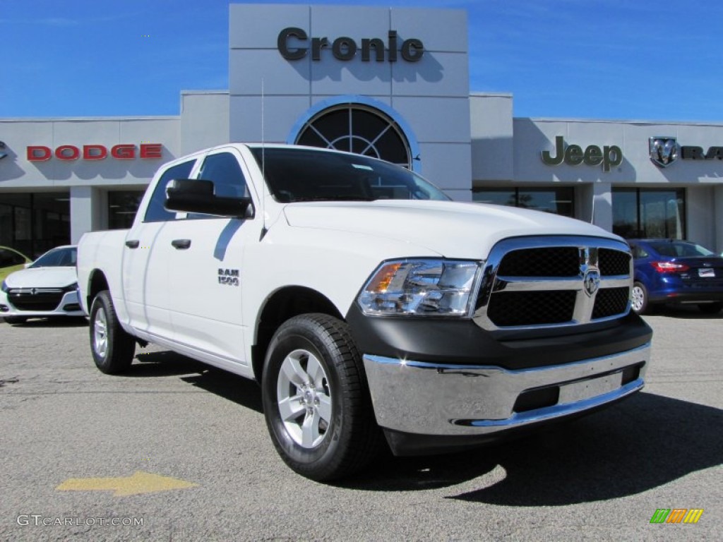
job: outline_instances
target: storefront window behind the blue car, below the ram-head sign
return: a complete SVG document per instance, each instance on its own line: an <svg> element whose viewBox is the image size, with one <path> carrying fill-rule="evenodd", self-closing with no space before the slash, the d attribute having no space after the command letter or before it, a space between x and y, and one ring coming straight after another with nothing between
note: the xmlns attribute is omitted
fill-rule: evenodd
<svg viewBox="0 0 723 542"><path fill-rule="evenodd" d="M612 232L625 238L685 238L685 189L612 189Z"/></svg>

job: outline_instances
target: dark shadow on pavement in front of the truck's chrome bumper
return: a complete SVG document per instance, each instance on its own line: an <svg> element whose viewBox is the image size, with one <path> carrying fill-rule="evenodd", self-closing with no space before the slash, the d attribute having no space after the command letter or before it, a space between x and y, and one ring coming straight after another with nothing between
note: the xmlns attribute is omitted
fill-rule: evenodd
<svg viewBox="0 0 723 542"><path fill-rule="evenodd" d="M408 491L489 473L489 481L481 480L484 487L448 498L520 507L606 500L721 465L721 427L723 410L639 393L578 421L494 447L411 461L388 457L363 481L345 486Z"/></svg>

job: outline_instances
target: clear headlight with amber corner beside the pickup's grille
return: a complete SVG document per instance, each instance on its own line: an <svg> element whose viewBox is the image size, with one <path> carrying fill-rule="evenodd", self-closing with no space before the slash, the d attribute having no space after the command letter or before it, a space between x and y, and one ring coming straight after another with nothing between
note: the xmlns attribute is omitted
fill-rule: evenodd
<svg viewBox="0 0 723 542"><path fill-rule="evenodd" d="M482 262L399 259L383 262L357 302L371 316L471 317Z"/></svg>

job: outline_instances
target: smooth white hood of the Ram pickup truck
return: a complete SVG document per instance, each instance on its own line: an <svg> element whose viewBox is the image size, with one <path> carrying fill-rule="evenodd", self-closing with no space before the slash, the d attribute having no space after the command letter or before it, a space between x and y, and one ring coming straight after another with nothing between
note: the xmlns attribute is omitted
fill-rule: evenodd
<svg viewBox="0 0 723 542"><path fill-rule="evenodd" d="M304 202L287 205L284 214L294 228L393 238L451 258L486 258L497 241L508 237L575 235L620 239L581 220L480 203L390 199Z"/></svg>

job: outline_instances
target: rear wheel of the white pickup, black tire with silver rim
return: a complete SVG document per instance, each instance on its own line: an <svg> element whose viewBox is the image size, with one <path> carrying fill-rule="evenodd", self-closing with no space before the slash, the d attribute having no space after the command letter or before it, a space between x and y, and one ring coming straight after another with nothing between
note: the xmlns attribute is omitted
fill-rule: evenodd
<svg viewBox="0 0 723 542"><path fill-rule="evenodd" d="M135 340L118 323L111 293L99 292L90 307L90 351L106 374L126 371L133 361Z"/></svg>

